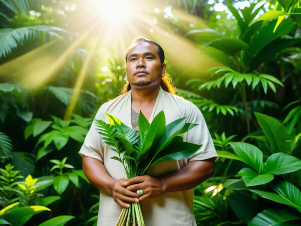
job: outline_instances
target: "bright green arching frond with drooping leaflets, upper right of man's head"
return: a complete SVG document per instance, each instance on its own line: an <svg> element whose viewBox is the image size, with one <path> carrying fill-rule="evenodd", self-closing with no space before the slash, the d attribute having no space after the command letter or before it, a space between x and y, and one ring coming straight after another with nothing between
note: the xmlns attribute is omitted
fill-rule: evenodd
<svg viewBox="0 0 301 226"><path fill-rule="evenodd" d="M228 67L214 67L213 69L216 70L215 74L218 74L219 72L227 73L216 80L203 83L199 86L199 90L204 88L208 90L215 87L219 88L223 82L225 83L226 88L230 83L232 83L232 86L235 89L237 83L240 83L242 81L246 81L248 86L252 85L252 90L254 90L255 87L258 86L259 83L261 83L265 93L267 93L268 86L273 90L274 93L276 93L276 87L274 83L284 86L280 80L268 74L242 74L237 71L233 71Z"/></svg>

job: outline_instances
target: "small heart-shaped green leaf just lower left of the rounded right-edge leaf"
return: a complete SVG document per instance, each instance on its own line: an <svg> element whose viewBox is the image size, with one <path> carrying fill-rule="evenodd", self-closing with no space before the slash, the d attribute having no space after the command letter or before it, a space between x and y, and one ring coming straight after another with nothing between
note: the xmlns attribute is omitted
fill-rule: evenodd
<svg viewBox="0 0 301 226"><path fill-rule="evenodd" d="M251 168L243 168L238 172L247 187L267 184L274 179L272 174L258 174Z"/></svg>

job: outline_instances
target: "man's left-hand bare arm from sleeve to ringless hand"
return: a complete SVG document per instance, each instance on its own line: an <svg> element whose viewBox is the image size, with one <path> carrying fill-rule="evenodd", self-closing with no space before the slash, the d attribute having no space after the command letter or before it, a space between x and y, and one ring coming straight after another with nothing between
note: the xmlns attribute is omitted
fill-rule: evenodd
<svg viewBox="0 0 301 226"><path fill-rule="evenodd" d="M120 206L129 208L126 202L139 202L139 196L127 190L126 179L115 180L107 172L104 164L97 159L82 156L82 169L88 180L99 190L113 196Z"/></svg>

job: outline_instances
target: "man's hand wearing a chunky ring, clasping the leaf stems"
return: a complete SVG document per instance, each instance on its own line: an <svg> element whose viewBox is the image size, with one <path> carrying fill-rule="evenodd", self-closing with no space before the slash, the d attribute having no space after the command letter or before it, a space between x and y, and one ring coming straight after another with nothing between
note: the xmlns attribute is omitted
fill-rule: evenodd
<svg viewBox="0 0 301 226"><path fill-rule="evenodd" d="M129 191L143 190L143 195L139 201L147 198L157 198L164 193L162 181L148 175L133 177L125 182Z"/></svg>

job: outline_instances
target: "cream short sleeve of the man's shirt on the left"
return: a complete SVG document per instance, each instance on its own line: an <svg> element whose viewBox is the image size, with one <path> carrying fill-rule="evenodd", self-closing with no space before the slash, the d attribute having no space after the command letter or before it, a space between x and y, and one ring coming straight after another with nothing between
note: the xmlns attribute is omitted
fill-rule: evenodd
<svg viewBox="0 0 301 226"><path fill-rule="evenodd" d="M105 114L104 105L102 105L98 109L94 119L103 120L102 118L104 114ZM97 159L103 163L104 146L102 143L102 135L97 132L96 128L97 127L95 121L93 120L92 125L85 137L84 143L81 149L79 150L79 155L81 156L85 155L93 159Z"/></svg>

